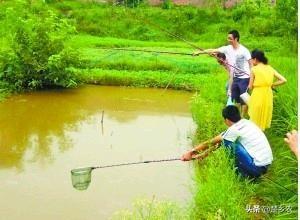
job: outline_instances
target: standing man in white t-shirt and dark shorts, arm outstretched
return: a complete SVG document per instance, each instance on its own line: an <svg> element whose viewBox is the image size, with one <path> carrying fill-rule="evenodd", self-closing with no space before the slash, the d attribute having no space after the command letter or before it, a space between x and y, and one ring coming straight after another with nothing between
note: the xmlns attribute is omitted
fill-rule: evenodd
<svg viewBox="0 0 300 220"><path fill-rule="evenodd" d="M217 49L207 49L204 51L196 51L194 55L200 53L224 53L228 62L228 66L232 71L232 85L231 85L231 97L241 106L242 116L247 113L247 105L240 98L240 95L245 93L248 89L249 79L250 79L250 68L251 64L251 54L249 50L240 44L240 34L237 30L232 30L228 32L227 41L229 45L219 47Z"/></svg>

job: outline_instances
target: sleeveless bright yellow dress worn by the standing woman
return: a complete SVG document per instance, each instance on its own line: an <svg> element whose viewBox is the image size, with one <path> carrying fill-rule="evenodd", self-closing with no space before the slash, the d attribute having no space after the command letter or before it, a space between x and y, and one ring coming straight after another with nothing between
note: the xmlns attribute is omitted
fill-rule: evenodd
<svg viewBox="0 0 300 220"><path fill-rule="evenodd" d="M263 131L271 126L273 112L272 84L275 70L265 64L252 68L254 74L253 91L249 101L248 113L253 121Z"/></svg>

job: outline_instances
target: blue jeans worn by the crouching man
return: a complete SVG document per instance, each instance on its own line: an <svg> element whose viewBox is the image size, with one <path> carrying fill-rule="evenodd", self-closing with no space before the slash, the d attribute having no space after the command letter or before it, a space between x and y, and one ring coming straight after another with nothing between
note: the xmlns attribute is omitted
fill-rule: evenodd
<svg viewBox="0 0 300 220"><path fill-rule="evenodd" d="M255 179L267 172L268 166L256 166L241 143L223 140L223 144L235 156L235 166L242 176Z"/></svg>

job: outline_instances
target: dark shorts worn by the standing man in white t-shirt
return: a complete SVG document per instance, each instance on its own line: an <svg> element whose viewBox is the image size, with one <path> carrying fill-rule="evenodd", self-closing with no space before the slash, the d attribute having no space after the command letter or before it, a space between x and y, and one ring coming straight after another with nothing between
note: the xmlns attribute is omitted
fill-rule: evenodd
<svg viewBox="0 0 300 220"><path fill-rule="evenodd" d="M231 86L231 98L236 103L241 103L242 105L245 105L245 102L240 98L240 95L247 91L249 80L250 78L233 78Z"/></svg>

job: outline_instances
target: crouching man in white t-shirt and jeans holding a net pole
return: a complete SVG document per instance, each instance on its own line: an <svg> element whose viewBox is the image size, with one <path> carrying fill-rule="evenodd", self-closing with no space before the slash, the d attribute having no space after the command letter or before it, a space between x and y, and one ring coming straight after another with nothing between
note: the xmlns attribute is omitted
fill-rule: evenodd
<svg viewBox="0 0 300 220"><path fill-rule="evenodd" d="M266 173L273 155L265 134L253 122L241 119L236 106L229 105L222 111L228 129L209 141L199 144L182 155L182 161L189 161L209 145L223 144L235 155L237 171L244 177L258 178Z"/></svg>

